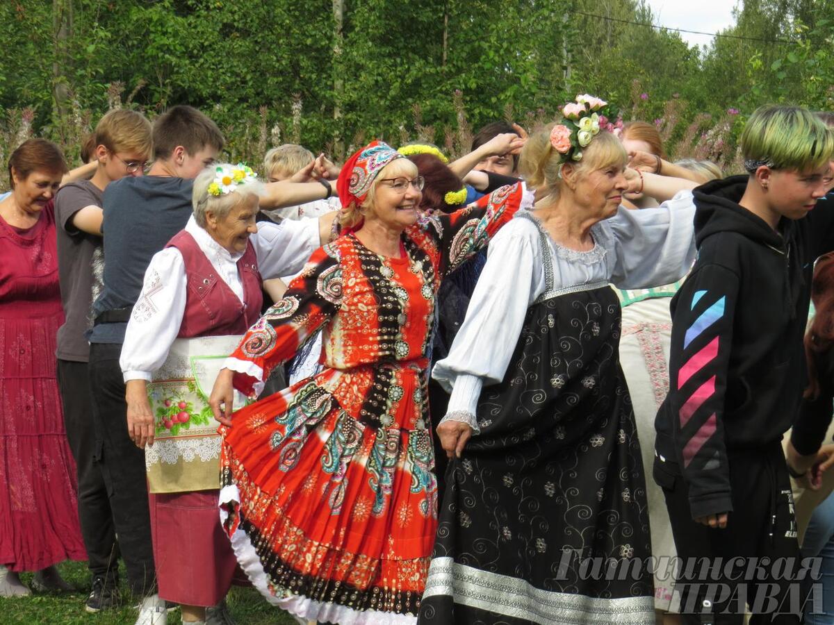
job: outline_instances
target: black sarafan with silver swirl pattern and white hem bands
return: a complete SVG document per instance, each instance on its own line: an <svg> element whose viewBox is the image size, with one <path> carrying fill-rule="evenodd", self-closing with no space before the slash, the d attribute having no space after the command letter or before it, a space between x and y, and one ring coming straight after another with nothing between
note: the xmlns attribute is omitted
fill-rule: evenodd
<svg viewBox="0 0 834 625"><path fill-rule="evenodd" d="M445 474L421 623L654 622L620 303L547 281Z"/></svg>

